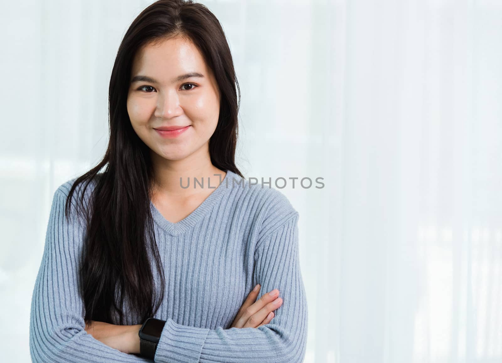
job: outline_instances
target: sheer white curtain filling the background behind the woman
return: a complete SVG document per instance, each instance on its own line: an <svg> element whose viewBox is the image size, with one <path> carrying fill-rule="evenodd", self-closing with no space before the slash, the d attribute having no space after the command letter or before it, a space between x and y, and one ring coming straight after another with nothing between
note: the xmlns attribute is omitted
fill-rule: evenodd
<svg viewBox="0 0 502 363"><path fill-rule="evenodd" d="M6 361L30 361L52 194L103 155L116 50L150 3L0 12ZM241 88L238 167L288 180L300 212L305 361L502 361L502 2L203 4Z"/></svg>

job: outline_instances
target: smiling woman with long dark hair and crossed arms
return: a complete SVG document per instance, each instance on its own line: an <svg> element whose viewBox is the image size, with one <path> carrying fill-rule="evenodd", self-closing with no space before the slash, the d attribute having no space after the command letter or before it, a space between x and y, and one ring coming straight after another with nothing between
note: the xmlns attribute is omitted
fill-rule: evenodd
<svg viewBox="0 0 502 363"><path fill-rule="evenodd" d="M110 78L105 156L54 193L33 361L148 361L148 347L160 362L303 360L298 212L235 166L236 83L203 5L161 0L135 19Z"/></svg>

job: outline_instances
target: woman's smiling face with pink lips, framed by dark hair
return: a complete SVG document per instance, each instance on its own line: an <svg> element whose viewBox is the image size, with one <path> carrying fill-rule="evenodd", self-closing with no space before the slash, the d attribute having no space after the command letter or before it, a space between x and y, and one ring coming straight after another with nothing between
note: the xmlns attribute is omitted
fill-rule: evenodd
<svg viewBox="0 0 502 363"><path fill-rule="evenodd" d="M177 79L188 73L199 75ZM160 157L181 160L196 151L208 153L219 100L214 75L191 42L171 38L135 55L127 110L136 134ZM156 130L173 126L188 128L168 137Z"/></svg>

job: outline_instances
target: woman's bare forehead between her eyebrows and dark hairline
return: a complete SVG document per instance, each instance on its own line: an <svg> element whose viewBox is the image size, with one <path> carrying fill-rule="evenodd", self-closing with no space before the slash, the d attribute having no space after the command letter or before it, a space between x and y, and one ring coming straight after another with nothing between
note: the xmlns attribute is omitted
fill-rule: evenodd
<svg viewBox="0 0 502 363"><path fill-rule="evenodd" d="M180 37L143 46L133 59L131 71L132 76L149 75L166 83L184 72L209 73L197 47Z"/></svg>

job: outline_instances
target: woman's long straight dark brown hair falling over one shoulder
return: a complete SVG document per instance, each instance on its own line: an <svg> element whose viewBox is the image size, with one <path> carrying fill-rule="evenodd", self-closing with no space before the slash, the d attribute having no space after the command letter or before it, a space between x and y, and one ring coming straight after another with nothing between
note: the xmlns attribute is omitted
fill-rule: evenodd
<svg viewBox="0 0 502 363"><path fill-rule="evenodd" d="M120 43L108 90L108 148L99 164L75 180L66 200L65 215L69 217L72 194L77 185L85 182L77 209L85 215L87 232L80 269L86 325L91 320L114 324L113 309L123 325L124 299L131 306L129 313L136 314L141 323L157 312L164 297L165 276L150 212L155 175L149 147L131 125L127 96L136 52L147 43L174 36L190 40L198 48L219 87L218 124L209 140L211 163L243 177L234 161L240 90L223 29L202 4L159 0L133 21ZM85 190L91 181L95 186L85 206ZM160 272L160 297L154 296L148 252Z"/></svg>

